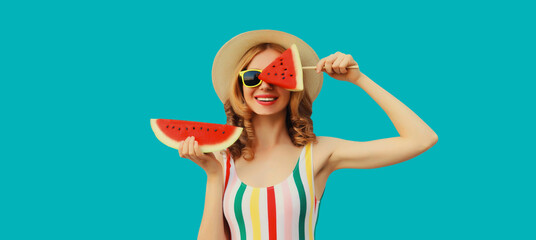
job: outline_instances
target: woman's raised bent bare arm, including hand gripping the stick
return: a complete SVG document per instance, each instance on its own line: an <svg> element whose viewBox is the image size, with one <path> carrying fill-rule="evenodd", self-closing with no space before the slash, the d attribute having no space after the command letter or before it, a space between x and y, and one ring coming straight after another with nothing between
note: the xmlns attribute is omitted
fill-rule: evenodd
<svg viewBox="0 0 536 240"><path fill-rule="evenodd" d="M337 52L321 59L317 72L324 68L331 77L361 87L385 111L400 136L367 142L323 138L331 153L327 166L332 171L393 165L423 153L437 142L437 134L417 114L358 68L347 69L352 65L357 65L352 56Z"/></svg>

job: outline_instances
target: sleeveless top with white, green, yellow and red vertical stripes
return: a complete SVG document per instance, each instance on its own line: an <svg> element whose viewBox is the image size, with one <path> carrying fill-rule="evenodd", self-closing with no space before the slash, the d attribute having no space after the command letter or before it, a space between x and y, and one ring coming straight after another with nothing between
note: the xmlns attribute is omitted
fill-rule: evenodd
<svg viewBox="0 0 536 240"><path fill-rule="evenodd" d="M315 195L311 143L303 148L287 179L264 188L243 183L229 152L223 155L226 163L223 213L231 239L314 239L320 200Z"/></svg>

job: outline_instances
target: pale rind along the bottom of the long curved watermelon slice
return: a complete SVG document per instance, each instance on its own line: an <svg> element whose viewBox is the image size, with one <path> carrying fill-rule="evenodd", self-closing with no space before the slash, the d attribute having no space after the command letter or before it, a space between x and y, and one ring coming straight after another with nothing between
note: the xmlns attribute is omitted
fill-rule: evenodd
<svg viewBox="0 0 536 240"><path fill-rule="evenodd" d="M165 144L166 146L178 150L179 142L169 138L164 132L162 132L162 130L160 130L160 128L158 127L158 124L156 124L156 120L158 119L151 119L151 128L154 134L156 135L156 138L160 142ZM235 127L235 126L233 127L235 128L235 131L233 131L233 134L230 134L229 137L227 137L225 141L218 143L218 144L200 145L199 150L201 150L201 152L203 153L216 152L216 151L224 150L228 148L229 146L233 145L233 143L236 142L236 140L238 140L238 138L242 134L242 131L244 130L241 127Z"/></svg>

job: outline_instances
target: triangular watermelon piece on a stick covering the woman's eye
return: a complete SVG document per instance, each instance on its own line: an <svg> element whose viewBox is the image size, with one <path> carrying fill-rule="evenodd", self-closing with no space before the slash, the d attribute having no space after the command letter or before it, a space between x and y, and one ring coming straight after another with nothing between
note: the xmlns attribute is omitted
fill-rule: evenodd
<svg viewBox="0 0 536 240"><path fill-rule="evenodd" d="M289 91L303 90L303 75L300 54L296 44L284 51L268 67L262 70L259 79Z"/></svg>

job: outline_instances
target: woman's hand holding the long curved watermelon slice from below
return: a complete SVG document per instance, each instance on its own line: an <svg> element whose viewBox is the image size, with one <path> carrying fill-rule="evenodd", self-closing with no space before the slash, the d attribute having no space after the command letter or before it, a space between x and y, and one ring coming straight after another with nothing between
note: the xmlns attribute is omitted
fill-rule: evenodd
<svg viewBox="0 0 536 240"><path fill-rule="evenodd" d="M188 158L205 170L207 175L219 174L222 172L220 161L214 156L214 153L203 153L199 150L199 145L195 137L187 137L184 141L179 142L179 156Z"/></svg>

